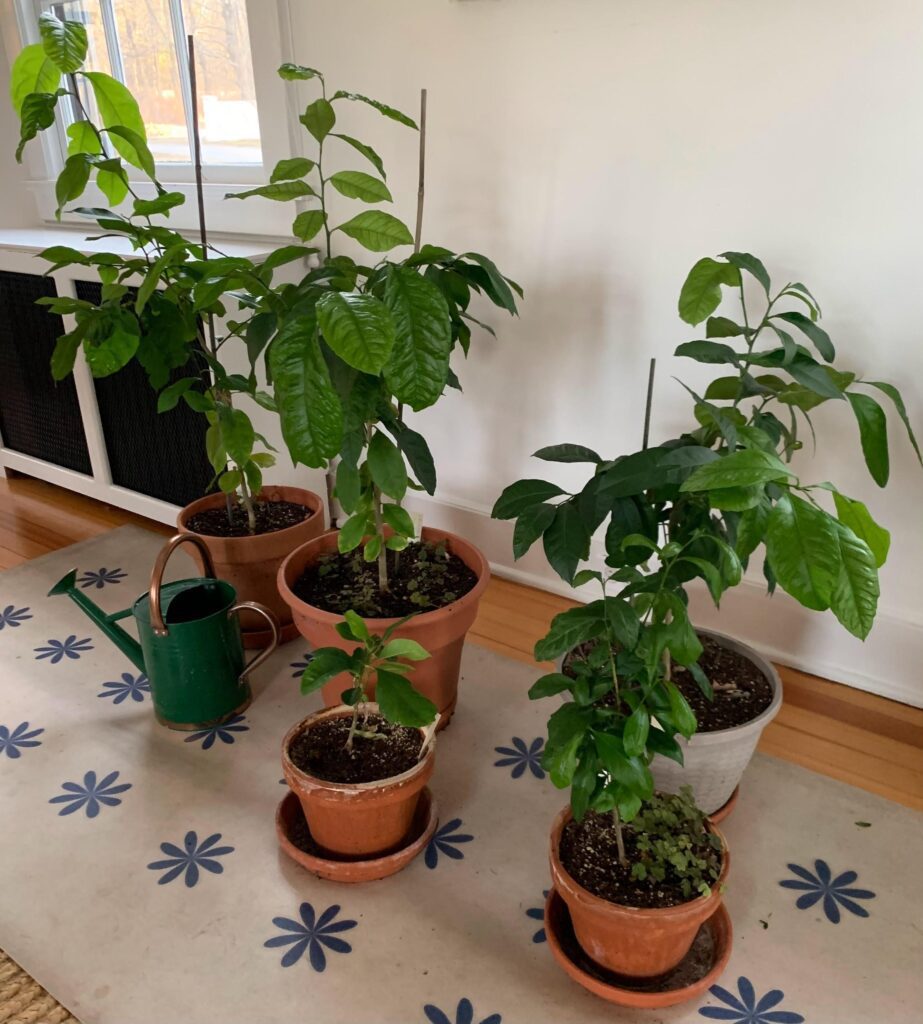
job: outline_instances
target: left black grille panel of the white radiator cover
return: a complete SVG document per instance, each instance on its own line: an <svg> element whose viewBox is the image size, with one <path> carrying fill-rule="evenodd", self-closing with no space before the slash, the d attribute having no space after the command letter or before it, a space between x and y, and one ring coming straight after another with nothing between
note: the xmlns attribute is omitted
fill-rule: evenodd
<svg viewBox="0 0 923 1024"><path fill-rule="evenodd" d="M74 378L55 383L49 368L64 323L35 304L56 294L50 278L0 271L0 431L8 449L89 475Z"/></svg>

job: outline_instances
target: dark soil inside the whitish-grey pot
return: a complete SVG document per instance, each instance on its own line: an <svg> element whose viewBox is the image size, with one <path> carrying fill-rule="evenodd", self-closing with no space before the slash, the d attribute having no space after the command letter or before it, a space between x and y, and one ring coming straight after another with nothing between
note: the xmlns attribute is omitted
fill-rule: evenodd
<svg viewBox="0 0 923 1024"><path fill-rule="evenodd" d="M677 668L673 682L691 705L699 732L717 732L744 725L761 715L772 702L769 680L749 658L722 647L711 637L700 636L705 648L699 666L715 691L709 700L685 669Z"/></svg>

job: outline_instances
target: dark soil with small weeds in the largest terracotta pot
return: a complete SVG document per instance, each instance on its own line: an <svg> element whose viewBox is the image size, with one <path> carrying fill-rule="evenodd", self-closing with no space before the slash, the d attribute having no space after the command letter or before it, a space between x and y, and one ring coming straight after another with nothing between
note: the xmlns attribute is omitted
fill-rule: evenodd
<svg viewBox="0 0 923 1024"><path fill-rule="evenodd" d="M323 556L305 569L292 590L323 611L342 614L352 609L364 618L400 618L444 608L477 583L474 572L442 544L415 541L400 553L389 551L387 558L389 589L385 594L378 590L378 564L367 562L361 550Z"/></svg>

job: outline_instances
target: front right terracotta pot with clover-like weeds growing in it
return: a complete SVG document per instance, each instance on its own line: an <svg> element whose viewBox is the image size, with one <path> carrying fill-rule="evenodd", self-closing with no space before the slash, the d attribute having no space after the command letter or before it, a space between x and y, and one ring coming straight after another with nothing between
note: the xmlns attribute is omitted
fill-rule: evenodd
<svg viewBox="0 0 923 1024"><path fill-rule="evenodd" d="M721 838L724 859L721 874L708 896L699 896L678 906L648 909L600 899L568 873L558 856L558 844L570 820L571 808L565 807L551 829L551 879L568 904L581 948L600 966L628 977L652 978L671 971L689 951L699 929L721 903L729 860L724 837L710 825Z"/></svg>

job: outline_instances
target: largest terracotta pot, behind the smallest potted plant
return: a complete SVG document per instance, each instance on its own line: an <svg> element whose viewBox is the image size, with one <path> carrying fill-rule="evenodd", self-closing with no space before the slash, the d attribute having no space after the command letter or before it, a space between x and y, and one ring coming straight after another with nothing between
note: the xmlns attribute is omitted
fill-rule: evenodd
<svg viewBox="0 0 923 1024"><path fill-rule="evenodd" d="M462 648L465 634L477 615L477 605L491 578L490 566L484 555L467 541L447 534L442 529L423 527L423 540L431 543L445 541L448 550L457 555L477 575L477 583L464 597L445 608L424 611L415 615L397 630L396 636L409 637L421 643L430 656L425 662L414 662L410 681L439 710L439 728L444 729L455 711L458 699L458 674L461 667ZM295 596L292 590L295 582L308 565L321 555L337 550L337 530L330 530L313 541L293 551L279 569L279 591L291 607L295 625L313 647L339 647L351 651L353 641L344 640L336 631L342 615L333 611L322 611ZM366 625L372 633L381 635L395 623L395 618L367 618ZM328 708L340 703L343 690L349 685L345 675L336 676L323 689L324 702Z"/></svg>

